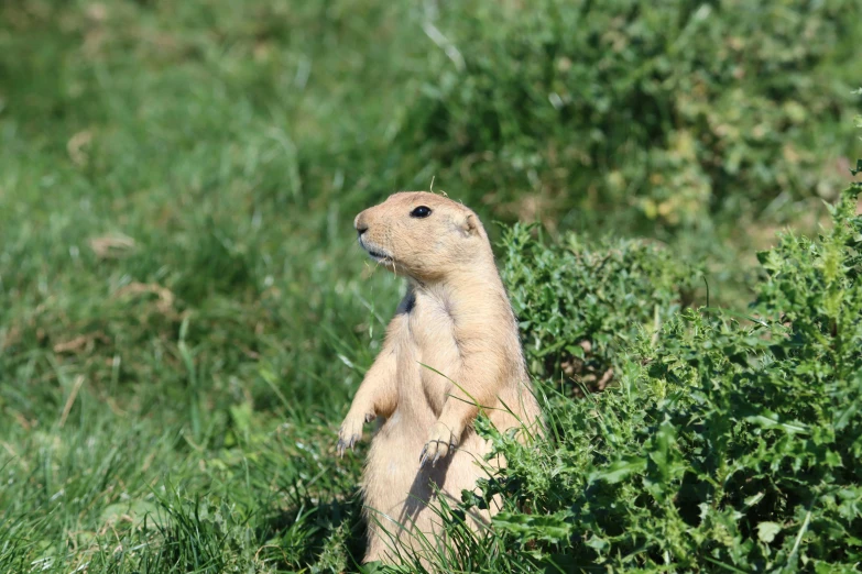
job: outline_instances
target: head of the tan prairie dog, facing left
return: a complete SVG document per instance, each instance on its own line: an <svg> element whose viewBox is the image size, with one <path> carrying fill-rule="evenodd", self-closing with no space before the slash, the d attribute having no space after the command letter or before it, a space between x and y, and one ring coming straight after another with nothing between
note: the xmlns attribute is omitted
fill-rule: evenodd
<svg viewBox="0 0 862 574"><path fill-rule="evenodd" d="M425 191L402 191L353 221L359 244L395 273L427 282L493 264L479 218L461 203Z"/></svg>

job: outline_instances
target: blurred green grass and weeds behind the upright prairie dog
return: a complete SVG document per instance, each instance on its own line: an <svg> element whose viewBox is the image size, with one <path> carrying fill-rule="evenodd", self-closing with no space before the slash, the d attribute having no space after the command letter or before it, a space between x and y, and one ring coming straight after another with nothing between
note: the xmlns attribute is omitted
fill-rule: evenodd
<svg viewBox="0 0 862 574"><path fill-rule="evenodd" d="M353 216L433 186L494 238L650 238L744 306L754 251L850 178L861 16L3 2L0 561L352 567L363 451L334 431L401 290Z"/></svg>

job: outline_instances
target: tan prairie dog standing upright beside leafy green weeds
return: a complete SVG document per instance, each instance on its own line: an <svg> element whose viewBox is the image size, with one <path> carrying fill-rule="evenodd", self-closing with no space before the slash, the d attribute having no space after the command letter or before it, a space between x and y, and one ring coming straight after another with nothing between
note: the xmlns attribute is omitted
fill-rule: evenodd
<svg viewBox="0 0 862 574"><path fill-rule="evenodd" d="M490 444L471 428L481 409L505 431L538 430L512 307L479 218L445 197L405 191L354 220L362 249L407 279L406 295L339 430L338 452L363 424L385 419L365 464L361 490L369 539L364 562L399 561L443 544L438 496L460 501L487 476ZM532 429L532 430L531 430ZM489 463L484 463L489 464ZM492 466L505 464L497 457ZM490 522L499 500L469 517Z"/></svg>

